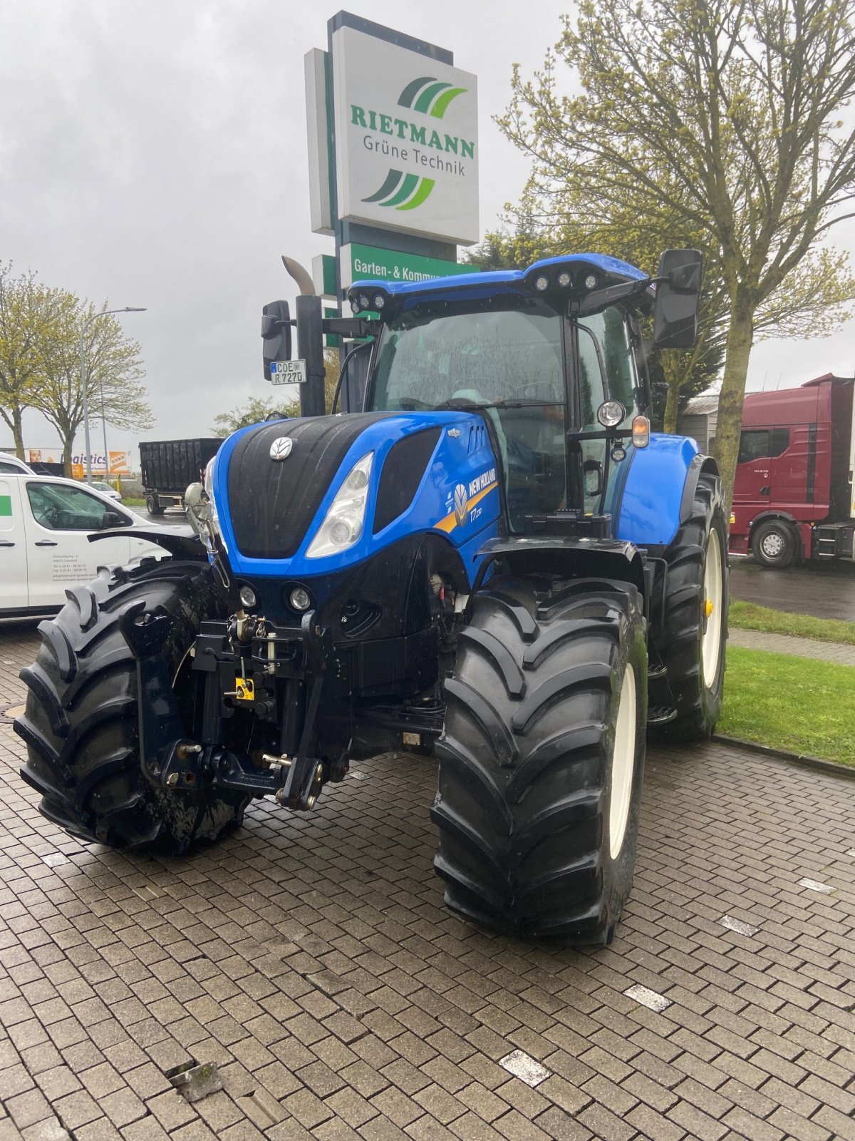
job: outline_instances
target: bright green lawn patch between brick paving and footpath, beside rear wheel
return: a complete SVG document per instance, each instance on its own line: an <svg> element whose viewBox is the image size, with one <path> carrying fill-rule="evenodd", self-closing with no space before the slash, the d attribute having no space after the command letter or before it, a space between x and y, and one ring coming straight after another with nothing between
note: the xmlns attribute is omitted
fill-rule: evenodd
<svg viewBox="0 0 855 1141"><path fill-rule="evenodd" d="M727 647L718 733L855 764L853 726L855 667Z"/></svg>

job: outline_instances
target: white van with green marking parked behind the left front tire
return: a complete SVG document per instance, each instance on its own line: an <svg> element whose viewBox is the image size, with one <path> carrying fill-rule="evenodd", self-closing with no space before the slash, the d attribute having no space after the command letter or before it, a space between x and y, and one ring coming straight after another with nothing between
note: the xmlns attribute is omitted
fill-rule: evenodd
<svg viewBox="0 0 855 1141"><path fill-rule="evenodd" d="M87 537L119 527L157 529L73 479L0 472L0 617L54 614L66 589L89 582L99 566L166 555L131 535Z"/></svg>

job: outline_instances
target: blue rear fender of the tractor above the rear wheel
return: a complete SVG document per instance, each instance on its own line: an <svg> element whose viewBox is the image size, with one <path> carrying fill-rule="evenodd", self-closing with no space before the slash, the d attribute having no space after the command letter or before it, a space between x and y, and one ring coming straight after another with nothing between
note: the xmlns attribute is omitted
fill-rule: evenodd
<svg viewBox="0 0 855 1141"><path fill-rule="evenodd" d="M624 491L614 512L614 534L637 547L667 547L691 511L702 471L718 475L687 436L653 432L644 448L633 448Z"/></svg>

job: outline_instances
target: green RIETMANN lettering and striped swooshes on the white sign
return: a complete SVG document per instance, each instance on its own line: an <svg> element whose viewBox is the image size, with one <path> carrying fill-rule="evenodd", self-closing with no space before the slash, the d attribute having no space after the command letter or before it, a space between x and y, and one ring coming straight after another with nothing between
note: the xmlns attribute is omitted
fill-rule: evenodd
<svg viewBox="0 0 855 1141"><path fill-rule="evenodd" d="M433 119L442 119L451 100L456 99L458 95L465 94L465 87L455 87L453 83L443 83L430 75L422 75L404 88L398 98L398 106L418 111ZM375 122L380 121L380 130L383 133L397 133L398 138L408 139L410 143L418 143L425 147L433 147L435 151L474 157L474 144L466 139L459 139L457 136L440 136L437 130L410 123L405 119L392 119L390 115L377 116L374 111L367 112L368 119L366 120L366 112L361 107L352 107L351 113L352 121L360 127L374 130L376 129ZM388 123L388 129L384 129L384 123ZM394 127L394 132L392 127ZM434 160L431 160L431 164L433 163ZM449 170L459 167L459 172L463 172L461 163L450 162L442 165L443 169ZM457 171L455 170L455 172ZM402 170L390 169L380 189L363 199L363 202L376 202L380 207L394 207L396 210L416 210L427 201L435 185L433 178L405 175Z"/></svg>

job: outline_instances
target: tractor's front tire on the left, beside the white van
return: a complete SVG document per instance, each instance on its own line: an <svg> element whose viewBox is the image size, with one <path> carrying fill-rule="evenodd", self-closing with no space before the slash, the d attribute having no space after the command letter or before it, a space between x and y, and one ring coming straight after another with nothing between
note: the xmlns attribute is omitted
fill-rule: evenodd
<svg viewBox="0 0 855 1141"><path fill-rule="evenodd" d="M211 570L164 559L133 570L105 568L66 592L56 618L42 622L35 663L21 671L27 694L15 731L27 745L23 778L42 794L40 811L81 840L181 852L239 824L247 798L211 790L155 787L139 759L137 663L120 630L132 602L162 607L172 628L162 655L186 729L193 726L188 650L205 618L223 617Z"/></svg>

